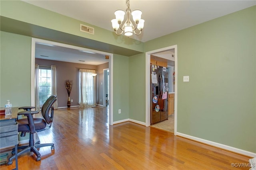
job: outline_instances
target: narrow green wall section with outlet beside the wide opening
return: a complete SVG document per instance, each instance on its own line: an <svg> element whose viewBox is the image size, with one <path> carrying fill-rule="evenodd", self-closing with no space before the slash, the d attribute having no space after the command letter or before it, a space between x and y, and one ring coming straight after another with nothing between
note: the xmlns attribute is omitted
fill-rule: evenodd
<svg viewBox="0 0 256 170"><path fill-rule="evenodd" d="M113 121L119 121L129 118L129 57L114 55L113 59Z"/></svg>

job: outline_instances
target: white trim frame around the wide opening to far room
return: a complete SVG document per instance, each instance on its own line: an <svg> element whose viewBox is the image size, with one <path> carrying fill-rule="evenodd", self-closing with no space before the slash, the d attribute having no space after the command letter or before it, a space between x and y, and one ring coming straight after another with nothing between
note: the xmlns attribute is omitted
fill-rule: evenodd
<svg viewBox="0 0 256 170"><path fill-rule="evenodd" d="M36 43L39 44L44 44L44 45L55 45L55 46L60 46L60 47L66 47L70 49L77 49L77 50L82 50L82 51L88 51L92 53L97 53L97 54L102 54L102 55L108 55L109 56L109 62L108 62L108 68L109 68L109 114L108 114L108 120L109 120L109 125L113 125L113 54L112 53L107 53L103 51L97 51L97 50L92 50L92 49L86 49L83 47L78 47L74 45L68 45L64 43L58 43L55 41L48 41L44 39L37 39L37 38L32 38L31 39L31 106L35 106L35 90L34 90L34 77L35 77L35 55L36 55Z"/></svg>

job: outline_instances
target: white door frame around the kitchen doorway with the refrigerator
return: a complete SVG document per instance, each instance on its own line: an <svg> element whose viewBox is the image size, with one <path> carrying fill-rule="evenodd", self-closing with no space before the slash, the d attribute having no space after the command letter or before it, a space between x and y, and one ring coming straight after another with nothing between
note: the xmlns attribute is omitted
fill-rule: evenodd
<svg viewBox="0 0 256 170"><path fill-rule="evenodd" d="M162 49L156 49L153 51L146 52L146 126L150 126L150 103L151 103L151 97L150 97L150 55L155 53L160 53L163 51L168 51L170 49L174 49L174 70L175 70L175 81L174 81L174 89L175 89L175 95L174 95L174 135L177 133L177 96L178 96L178 84L177 84L177 77L178 77L178 51L177 51L177 45L172 45L170 47L164 47ZM170 56L171 57L171 56Z"/></svg>

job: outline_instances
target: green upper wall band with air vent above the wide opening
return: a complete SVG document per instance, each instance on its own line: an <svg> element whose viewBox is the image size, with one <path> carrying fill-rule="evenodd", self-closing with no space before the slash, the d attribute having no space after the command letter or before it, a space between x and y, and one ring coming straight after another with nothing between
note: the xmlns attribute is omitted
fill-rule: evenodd
<svg viewBox="0 0 256 170"><path fill-rule="evenodd" d="M95 40L92 43L95 43L98 45L98 49L102 49L102 51L107 51L109 48L112 48L111 45L116 45L118 47L124 47L127 49L132 49L134 51L140 51L143 52L144 49L144 43L137 41L132 38L128 38L123 35L116 35L114 31L108 31L106 29L102 29L100 27L96 27L94 25L91 25L89 23L85 23L79 20L75 20L73 18L58 14L56 12L52 12L50 10L46 10L43 8L40 8L38 6L34 6L32 4L28 4L26 2L20 1L20 0L1 0L1 16L22 21L24 23L29 23L30 26L28 29L31 29L31 36L33 37L42 37L45 36L45 39L50 39L51 37L55 37L60 33L68 33L75 35L73 37L68 37L68 41L72 42L72 39L78 39L79 37L84 37L87 39ZM84 33L80 31L80 24L88 25L90 27L94 27L94 35L89 33ZM111 25L111 22L109 23ZM40 26L41 28L35 28L35 25ZM12 27L9 27L9 29L16 29L17 25L13 25ZM60 33L52 33L52 35L42 35L43 33L49 33L48 29L60 31ZM47 31L47 32L46 32ZM19 31L21 33L28 32L28 30L22 30ZM68 36L68 35L66 35ZM58 37L59 39L63 38ZM83 40L80 40L83 41ZM85 40L84 40L85 41ZM103 43L96 43L96 41L100 41ZM80 42L83 43L83 42ZM104 44L107 43L108 45ZM92 44L88 46L93 46ZM102 47L99 47L102 46Z"/></svg>

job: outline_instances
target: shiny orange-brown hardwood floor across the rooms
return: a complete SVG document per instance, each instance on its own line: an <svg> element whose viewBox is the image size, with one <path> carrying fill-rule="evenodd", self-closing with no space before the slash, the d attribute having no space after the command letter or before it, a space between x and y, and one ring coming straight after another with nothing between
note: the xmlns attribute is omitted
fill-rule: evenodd
<svg viewBox="0 0 256 170"><path fill-rule="evenodd" d="M18 158L19 170L248 170L231 163L249 157L203 145L173 133L131 122L108 125L103 107L58 109L50 129L38 133L41 161L34 154ZM1 153L3 150L1 150ZM1 170L15 168L2 165Z"/></svg>

